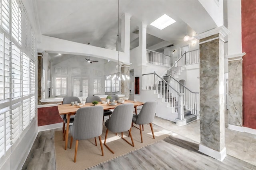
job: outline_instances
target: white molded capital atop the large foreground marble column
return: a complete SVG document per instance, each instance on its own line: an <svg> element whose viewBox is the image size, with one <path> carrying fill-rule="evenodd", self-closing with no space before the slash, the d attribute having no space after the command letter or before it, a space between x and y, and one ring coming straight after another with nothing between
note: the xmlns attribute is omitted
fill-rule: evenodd
<svg viewBox="0 0 256 170"><path fill-rule="evenodd" d="M215 35L215 34L219 34L218 38L220 38L220 39L222 39L222 41L224 41L223 38L226 37L228 34L230 34L230 31L228 31L228 29L224 25L222 25L220 27L216 27L214 29L210 29L209 31L200 33L199 35L196 35L195 38L201 40L201 39L210 37L211 35ZM200 42L200 43L202 43L202 42Z"/></svg>

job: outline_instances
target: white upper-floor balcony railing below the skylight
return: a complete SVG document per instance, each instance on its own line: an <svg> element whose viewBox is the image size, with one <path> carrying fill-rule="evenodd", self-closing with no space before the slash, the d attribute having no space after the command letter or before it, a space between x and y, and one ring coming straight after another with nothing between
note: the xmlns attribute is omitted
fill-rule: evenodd
<svg viewBox="0 0 256 170"><path fill-rule="evenodd" d="M158 53L152 50L147 50L147 63L167 67L172 66L172 60L169 55Z"/></svg>

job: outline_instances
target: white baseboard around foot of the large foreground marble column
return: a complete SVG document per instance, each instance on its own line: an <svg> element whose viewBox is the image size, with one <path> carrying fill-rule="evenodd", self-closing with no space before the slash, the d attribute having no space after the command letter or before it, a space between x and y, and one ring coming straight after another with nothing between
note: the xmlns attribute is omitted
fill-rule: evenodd
<svg viewBox="0 0 256 170"><path fill-rule="evenodd" d="M220 152L218 152L218 151L210 149L204 145L199 145L198 151L202 152L204 154L207 154L208 156L211 156L212 158L220 160L220 161L224 160L224 158L227 156L226 147L224 149L222 149Z"/></svg>

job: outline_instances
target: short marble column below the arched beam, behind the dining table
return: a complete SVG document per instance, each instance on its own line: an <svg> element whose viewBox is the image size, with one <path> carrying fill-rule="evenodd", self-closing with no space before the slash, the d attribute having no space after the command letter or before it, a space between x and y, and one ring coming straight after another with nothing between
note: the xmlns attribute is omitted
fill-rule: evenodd
<svg viewBox="0 0 256 170"><path fill-rule="evenodd" d="M130 65L123 64L121 67L121 72L130 77ZM123 80L121 78L121 93L125 94L126 98L130 97L130 80Z"/></svg>

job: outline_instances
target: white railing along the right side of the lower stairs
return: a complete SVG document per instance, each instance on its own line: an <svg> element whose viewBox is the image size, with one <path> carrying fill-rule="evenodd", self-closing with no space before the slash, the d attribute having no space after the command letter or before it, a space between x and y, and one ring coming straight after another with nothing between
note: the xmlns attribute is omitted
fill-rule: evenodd
<svg viewBox="0 0 256 170"><path fill-rule="evenodd" d="M192 92L171 75L168 75L168 80L177 92L184 94L183 104L185 108L190 110L191 114L199 115L199 93Z"/></svg>

